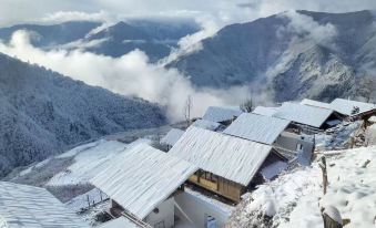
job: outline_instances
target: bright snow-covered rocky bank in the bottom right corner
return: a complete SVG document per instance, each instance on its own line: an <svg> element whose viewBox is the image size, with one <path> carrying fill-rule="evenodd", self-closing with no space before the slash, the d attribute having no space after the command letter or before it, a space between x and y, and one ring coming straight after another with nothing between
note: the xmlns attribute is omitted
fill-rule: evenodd
<svg viewBox="0 0 376 228"><path fill-rule="evenodd" d="M376 147L328 152L328 193L322 172L298 168L261 185L236 208L230 227L323 228L321 206L336 207L348 228L375 228Z"/></svg>

